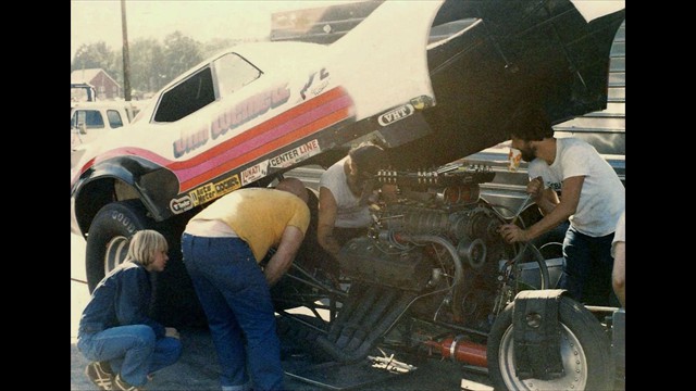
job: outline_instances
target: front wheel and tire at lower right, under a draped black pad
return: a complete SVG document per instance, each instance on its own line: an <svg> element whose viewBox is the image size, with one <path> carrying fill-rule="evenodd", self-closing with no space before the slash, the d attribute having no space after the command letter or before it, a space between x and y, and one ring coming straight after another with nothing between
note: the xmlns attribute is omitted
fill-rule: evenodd
<svg viewBox="0 0 696 391"><path fill-rule="evenodd" d="M597 318L574 300L561 297L561 360L559 379L520 379L515 375L510 303L496 318L488 336L488 376L496 390L611 390L610 342Z"/></svg>

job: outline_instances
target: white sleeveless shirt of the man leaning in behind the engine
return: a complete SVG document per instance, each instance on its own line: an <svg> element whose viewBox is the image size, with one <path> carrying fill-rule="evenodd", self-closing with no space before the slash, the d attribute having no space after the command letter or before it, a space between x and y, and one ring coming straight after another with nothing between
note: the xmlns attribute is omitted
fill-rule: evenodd
<svg viewBox="0 0 696 391"><path fill-rule="evenodd" d="M336 199L336 223L339 228L364 228L372 223L368 205L360 205L360 195L355 195L348 187L344 164L348 156L334 163L322 174L319 187L331 190Z"/></svg>

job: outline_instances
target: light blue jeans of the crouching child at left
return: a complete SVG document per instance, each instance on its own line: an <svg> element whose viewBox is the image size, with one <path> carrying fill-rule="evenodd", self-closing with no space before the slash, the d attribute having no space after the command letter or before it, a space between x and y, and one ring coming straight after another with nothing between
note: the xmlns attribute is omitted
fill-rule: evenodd
<svg viewBox="0 0 696 391"><path fill-rule="evenodd" d="M145 386L148 374L174 364L182 355L182 341L157 339L147 325L117 326L79 335L77 349L92 362L107 361L132 386Z"/></svg>

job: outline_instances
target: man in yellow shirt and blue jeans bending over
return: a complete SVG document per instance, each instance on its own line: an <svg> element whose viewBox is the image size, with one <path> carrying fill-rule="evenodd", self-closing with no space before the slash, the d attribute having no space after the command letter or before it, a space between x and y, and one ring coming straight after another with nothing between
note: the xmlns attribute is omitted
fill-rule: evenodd
<svg viewBox="0 0 696 391"><path fill-rule="evenodd" d="M270 286L290 268L302 243L307 200L296 178L275 189L239 189L198 213L184 230L184 264L208 317L223 391L283 389ZM275 253L261 269L271 248Z"/></svg>

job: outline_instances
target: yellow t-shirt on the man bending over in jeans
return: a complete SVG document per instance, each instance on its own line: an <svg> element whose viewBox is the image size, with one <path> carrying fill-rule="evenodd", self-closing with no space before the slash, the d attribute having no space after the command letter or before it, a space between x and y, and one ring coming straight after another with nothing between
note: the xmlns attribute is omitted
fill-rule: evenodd
<svg viewBox="0 0 696 391"><path fill-rule="evenodd" d="M281 243L285 227L294 226L306 234L309 218L309 207L295 194L270 188L246 188L214 201L191 220L224 222L249 244L260 262L269 249Z"/></svg>

